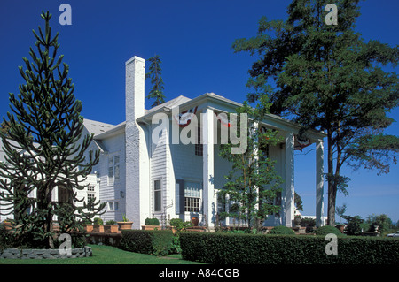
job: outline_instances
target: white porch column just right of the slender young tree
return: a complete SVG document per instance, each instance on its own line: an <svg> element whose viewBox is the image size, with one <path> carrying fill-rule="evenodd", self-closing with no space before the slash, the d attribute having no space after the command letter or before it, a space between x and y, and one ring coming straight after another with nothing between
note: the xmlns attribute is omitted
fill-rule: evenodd
<svg viewBox="0 0 399 282"><path fill-rule="evenodd" d="M294 212L294 187L293 187L293 149L294 149L294 135L293 133L286 134L286 175L285 175L285 191L284 195L284 217L283 222L287 227L293 225Z"/></svg>

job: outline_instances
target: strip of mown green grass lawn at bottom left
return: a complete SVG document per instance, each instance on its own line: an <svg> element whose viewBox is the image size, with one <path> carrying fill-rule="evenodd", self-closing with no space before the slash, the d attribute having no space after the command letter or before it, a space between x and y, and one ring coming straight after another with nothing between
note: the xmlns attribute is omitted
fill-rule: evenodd
<svg viewBox="0 0 399 282"><path fill-rule="evenodd" d="M199 264L184 261L181 255L155 256L132 253L110 246L89 245L93 256L66 259L0 259L0 264Z"/></svg>

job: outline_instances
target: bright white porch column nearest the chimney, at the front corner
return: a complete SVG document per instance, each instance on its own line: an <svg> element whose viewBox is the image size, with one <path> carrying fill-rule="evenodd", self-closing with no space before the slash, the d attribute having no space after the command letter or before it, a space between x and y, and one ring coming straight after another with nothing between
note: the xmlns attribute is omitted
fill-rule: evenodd
<svg viewBox="0 0 399 282"><path fill-rule="evenodd" d="M206 109L201 115L201 133L203 142L203 182L204 182L204 215L207 225L215 226L215 193L214 193L214 111Z"/></svg>

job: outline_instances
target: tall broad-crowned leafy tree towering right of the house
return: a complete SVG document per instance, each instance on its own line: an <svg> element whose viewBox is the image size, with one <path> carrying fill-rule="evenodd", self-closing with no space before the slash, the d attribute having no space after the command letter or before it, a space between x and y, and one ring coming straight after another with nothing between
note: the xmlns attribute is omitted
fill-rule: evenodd
<svg viewBox="0 0 399 282"><path fill-rule="evenodd" d="M337 191L348 194L343 165L387 173L399 151L399 138L384 133L399 102L398 77L383 70L397 64L399 49L354 31L358 2L335 1L338 25L329 26L325 2L293 0L286 20L263 17L257 36L233 44L259 56L249 71L250 102L269 96L272 113L326 132L329 225Z"/></svg>

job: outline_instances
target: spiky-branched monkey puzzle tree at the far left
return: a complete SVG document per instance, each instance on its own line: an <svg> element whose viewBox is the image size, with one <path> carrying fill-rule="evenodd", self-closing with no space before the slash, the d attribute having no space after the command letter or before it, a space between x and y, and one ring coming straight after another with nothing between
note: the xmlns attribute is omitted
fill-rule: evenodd
<svg viewBox="0 0 399 282"><path fill-rule="evenodd" d="M14 214L18 240L53 248L56 217L60 232L71 232L82 228L80 219L93 217L104 205L77 198L99 152L90 151L86 159L93 136L82 136L82 103L74 98L64 56L57 56L59 34L51 37L51 14L43 11L41 17L44 33L41 27L39 34L33 32L36 51L30 48L31 62L23 58L25 71L19 67L25 84L18 95L10 94L8 134L1 133L5 162L0 163L0 200L2 214ZM57 193L63 199L53 202Z"/></svg>

